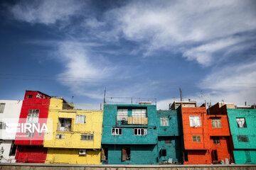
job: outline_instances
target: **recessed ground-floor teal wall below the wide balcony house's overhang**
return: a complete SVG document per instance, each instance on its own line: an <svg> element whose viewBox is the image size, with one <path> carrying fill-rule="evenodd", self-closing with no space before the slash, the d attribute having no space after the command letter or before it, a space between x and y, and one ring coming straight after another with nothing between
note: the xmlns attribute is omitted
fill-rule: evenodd
<svg viewBox="0 0 256 170"><path fill-rule="evenodd" d="M102 164L156 164L156 145L102 145L108 149L108 161ZM122 147L131 148L131 160L122 161Z"/></svg>

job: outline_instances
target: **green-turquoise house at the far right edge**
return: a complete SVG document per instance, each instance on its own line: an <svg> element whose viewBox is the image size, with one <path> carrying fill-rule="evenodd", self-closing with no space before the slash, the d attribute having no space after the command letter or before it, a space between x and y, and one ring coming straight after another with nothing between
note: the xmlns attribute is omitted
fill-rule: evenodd
<svg viewBox="0 0 256 170"><path fill-rule="evenodd" d="M228 108L228 121L235 164L256 164L256 110Z"/></svg>

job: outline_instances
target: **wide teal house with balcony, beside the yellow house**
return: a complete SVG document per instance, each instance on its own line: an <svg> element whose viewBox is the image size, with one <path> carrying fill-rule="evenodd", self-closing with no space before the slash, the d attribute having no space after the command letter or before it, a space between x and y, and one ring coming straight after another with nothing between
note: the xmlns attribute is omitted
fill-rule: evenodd
<svg viewBox="0 0 256 170"><path fill-rule="evenodd" d="M105 104L102 164L157 164L156 105Z"/></svg>

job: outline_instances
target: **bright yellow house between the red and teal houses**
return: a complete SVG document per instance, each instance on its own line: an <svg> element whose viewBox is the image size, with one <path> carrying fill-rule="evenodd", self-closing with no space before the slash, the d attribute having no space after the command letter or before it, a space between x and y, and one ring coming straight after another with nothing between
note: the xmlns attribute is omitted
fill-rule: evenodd
<svg viewBox="0 0 256 170"><path fill-rule="evenodd" d="M46 163L101 164L102 119L102 111L74 110L62 98L50 98Z"/></svg>

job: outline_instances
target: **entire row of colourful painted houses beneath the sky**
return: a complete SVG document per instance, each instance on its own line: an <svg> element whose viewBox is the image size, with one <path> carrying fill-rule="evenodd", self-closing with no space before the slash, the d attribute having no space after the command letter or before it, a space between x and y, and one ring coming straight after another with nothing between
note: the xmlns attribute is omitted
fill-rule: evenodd
<svg viewBox="0 0 256 170"><path fill-rule="evenodd" d="M75 109L63 98L26 91L23 101L0 100L0 161L46 164L256 164L253 106L174 101L104 103ZM16 123L10 133L11 123ZM30 132L23 124L46 125Z"/></svg>

